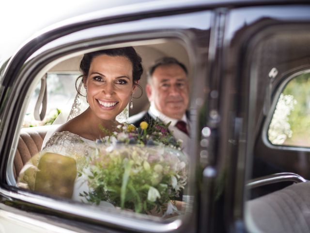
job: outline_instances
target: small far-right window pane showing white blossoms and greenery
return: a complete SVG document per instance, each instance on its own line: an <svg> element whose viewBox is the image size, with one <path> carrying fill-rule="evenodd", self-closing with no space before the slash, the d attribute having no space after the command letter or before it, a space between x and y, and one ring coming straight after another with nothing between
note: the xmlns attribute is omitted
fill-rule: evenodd
<svg viewBox="0 0 310 233"><path fill-rule="evenodd" d="M309 147L310 73L294 77L281 92L268 139L274 145Z"/></svg>

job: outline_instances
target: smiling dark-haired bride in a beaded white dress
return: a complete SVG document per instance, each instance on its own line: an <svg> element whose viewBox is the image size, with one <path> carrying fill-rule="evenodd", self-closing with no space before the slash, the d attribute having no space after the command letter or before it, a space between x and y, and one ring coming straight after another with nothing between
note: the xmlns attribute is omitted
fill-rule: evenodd
<svg viewBox="0 0 310 233"><path fill-rule="evenodd" d="M118 131L116 116L132 100L143 68L139 54L126 47L87 53L80 70L89 107L51 135L41 153L22 169L18 186L82 200L79 193L85 187L78 171L95 150L95 140Z"/></svg>

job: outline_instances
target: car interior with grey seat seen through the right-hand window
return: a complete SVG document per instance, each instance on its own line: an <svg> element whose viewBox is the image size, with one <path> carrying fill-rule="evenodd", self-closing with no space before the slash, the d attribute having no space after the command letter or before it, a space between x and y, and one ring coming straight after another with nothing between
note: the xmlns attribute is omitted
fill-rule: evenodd
<svg viewBox="0 0 310 233"><path fill-rule="evenodd" d="M310 229L309 41L306 30L278 27L254 49L255 144L246 190L254 232Z"/></svg>

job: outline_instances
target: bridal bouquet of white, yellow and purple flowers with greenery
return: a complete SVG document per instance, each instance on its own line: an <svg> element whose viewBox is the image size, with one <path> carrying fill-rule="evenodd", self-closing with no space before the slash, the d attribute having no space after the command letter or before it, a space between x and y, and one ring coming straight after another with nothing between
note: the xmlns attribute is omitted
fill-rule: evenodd
<svg viewBox="0 0 310 233"><path fill-rule="evenodd" d="M83 171L90 191L80 196L137 213L177 211L172 203L187 182L186 159L167 126L123 125L119 132L98 140Z"/></svg>

